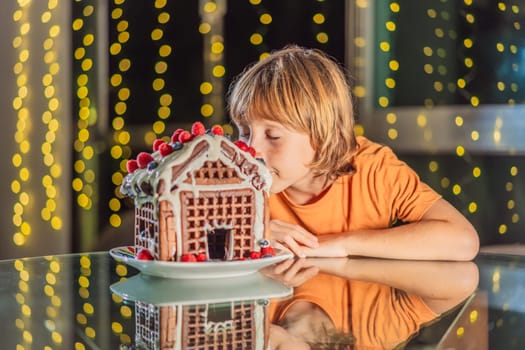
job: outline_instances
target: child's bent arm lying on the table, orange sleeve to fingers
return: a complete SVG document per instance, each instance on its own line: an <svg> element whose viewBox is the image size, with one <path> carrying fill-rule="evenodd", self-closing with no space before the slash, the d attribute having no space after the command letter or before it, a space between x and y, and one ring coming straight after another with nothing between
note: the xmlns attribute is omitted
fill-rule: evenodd
<svg viewBox="0 0 525 350"><path fill-rule="evenodd" d="M318 243L312 244L309 243L312 240L305 236L302 228L288 228L287 234L280 234L278 241L296 255L310 257L468 261L479 250L479 237L472 224L444 199L438 200L417 222L323 235L318 237ZM287 244L292 240L300 244Z"/></svg>

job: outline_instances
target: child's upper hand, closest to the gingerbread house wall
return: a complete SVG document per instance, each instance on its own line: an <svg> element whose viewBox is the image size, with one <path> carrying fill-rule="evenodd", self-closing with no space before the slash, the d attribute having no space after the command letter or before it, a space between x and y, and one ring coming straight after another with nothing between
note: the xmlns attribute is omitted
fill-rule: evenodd
<svg viewBox="0 0 525 350"><path fill-rule="evenodd" d="M280 220L270 221L270 234L275 241L288 248L295 255L304 258L306 253L303 248L309 250L319 247L317 237L298 225L289 224Z"/></svg>

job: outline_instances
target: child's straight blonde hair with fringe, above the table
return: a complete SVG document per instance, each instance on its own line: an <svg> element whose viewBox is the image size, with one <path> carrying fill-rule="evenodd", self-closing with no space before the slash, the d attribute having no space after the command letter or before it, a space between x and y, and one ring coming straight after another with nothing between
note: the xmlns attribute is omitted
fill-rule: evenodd
<svg viewBox="0 0 525 350"><path fill-rule="evenodd" d="M248 67L230 86L232 120L278 122L310 137L310 168L329 179L351 174L357 149L350 85L340 65L325 53L296 45L272 52Z"/></svg>

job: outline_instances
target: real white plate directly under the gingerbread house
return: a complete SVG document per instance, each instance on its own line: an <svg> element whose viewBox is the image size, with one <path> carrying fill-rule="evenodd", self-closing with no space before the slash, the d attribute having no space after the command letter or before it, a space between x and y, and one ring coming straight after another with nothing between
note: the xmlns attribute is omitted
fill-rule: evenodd
<svg viewBox="0 0 525 350"><path fill-rule="evenodd" d="M243 276L293 257L291 253L278 249L275 250L275 256L267 258L209 262L137 260L126 247L113 248L109 254L115 260L133 266L147 275L183 279Z"/></svg>

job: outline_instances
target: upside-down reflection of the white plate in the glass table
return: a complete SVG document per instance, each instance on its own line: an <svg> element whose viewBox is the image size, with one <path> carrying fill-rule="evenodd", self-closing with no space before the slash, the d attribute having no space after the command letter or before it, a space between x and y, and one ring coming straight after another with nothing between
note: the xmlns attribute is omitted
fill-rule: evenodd
<svg viewBox="0 0 525 350"><path fill-rule="evenodd" d="M229 301L283 298L292 288L253 273L242 277L217 279L167 279L138 274L110 286L125 300L154 305L221 303Z"/></svg>

